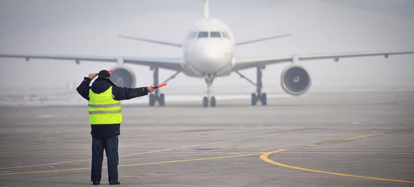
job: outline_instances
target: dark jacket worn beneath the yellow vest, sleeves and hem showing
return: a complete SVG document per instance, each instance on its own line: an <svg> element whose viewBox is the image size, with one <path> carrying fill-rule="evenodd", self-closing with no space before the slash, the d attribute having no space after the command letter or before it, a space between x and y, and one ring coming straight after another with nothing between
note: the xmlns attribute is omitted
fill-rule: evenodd
<svg viewBox="0 0 414 187"><path fill-rule="evenodd" d="M141 88L122 88L116 86L109 79L98 78L89 86L92 79L85 77L81 84L76 89L79 95L89 101L89 90L92 89L95 93L105 92L112 86L112 98L115 100L132 99L135 97L141 97L148 95L147 87ZM112 137L120 135L119 131L120 124L111 125L91 125L92 137Z"/></svg>

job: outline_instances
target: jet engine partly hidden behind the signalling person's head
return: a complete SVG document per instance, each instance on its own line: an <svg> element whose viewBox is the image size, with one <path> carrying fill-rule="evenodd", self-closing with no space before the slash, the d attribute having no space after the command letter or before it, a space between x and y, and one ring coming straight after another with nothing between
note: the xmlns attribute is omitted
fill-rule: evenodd
<svg viewBox="0 0 414 187"><path fill-rule="evenodd" d="M135 88L135 73L127 66L116 66L110 73L110 80L119 87Z"/></svg>

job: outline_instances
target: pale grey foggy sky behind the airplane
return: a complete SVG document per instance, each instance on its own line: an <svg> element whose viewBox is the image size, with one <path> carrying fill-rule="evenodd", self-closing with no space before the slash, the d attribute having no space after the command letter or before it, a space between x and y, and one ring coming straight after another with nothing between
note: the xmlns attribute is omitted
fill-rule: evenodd
<svg viewBox="0 0 414 187"><path fill-rule="evenodd" d="M414 50L414 1L219 1L210 0L210 17L228 24L236 41L286 33L291 37L236 47L236 58L275 57L332 52ZM201 19L204 1L0 1L0 53L32 55L114 55L181 57L179 48L120 39L131 35L180 42L192 23ZM413 86L414 55L303 61L311 71L309 92L361 85ZM8 88L64 88L80 83L89 72L115 63L0 59L0 86ZM135 70L137 86L152 84L146 66ZM264 91L282 92L280 74L288 63L267 66ZM174 72L160 70L160 81ZM255 79L255 69L244 70ZM255 87L238 75L213 83L220 92L232 84L241 92ZM205 92L202 79L183 74L168 89ZM167 91L168 92L168 91Z"/></svg>

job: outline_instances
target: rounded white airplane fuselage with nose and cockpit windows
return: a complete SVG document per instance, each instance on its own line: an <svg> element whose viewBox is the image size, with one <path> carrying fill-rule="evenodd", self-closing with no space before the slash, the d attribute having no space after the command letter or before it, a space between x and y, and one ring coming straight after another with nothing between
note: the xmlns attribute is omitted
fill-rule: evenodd
<svg viewBox="0 0 414 187"><path fill-rule="evenodd" d="M218 19L200 19L184 38L184 74L191 77L228 76L235 66L235 40Z"/></svg>

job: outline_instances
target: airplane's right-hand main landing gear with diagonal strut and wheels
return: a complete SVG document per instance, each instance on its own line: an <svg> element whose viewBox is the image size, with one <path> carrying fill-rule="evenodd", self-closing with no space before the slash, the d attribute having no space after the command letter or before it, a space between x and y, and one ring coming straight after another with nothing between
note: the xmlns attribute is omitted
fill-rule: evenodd
<svg viewBox="0 0 414 187"><path fill-rule="evenodd" d="M246 79L248 82L252 83L254 86L256 86L256 92L252 93L251 97L251 104L252 106L255 106L257 102L260 102L262 106L267 105L267 99L266 99L266 93L262 93L262 70L264 70L265 66L257 66L257 81L256 83L248 79L246 76L242 75L240 72L236 71L240 77L243 79Z"/></svg>

